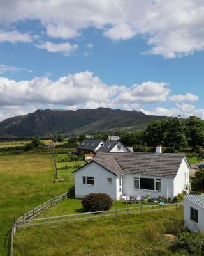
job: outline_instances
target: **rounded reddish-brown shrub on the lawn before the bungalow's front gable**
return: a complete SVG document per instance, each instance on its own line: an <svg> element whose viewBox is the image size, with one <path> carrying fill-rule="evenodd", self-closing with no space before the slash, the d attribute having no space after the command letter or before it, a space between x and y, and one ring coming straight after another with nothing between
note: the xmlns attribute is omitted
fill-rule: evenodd
<svg viewBox="0 0 204 256"><path fill-rule="evenodd" d="M112 204L112 198L105 193L91 193L82 200L82 206L87 212L109 210Z"/></svg>

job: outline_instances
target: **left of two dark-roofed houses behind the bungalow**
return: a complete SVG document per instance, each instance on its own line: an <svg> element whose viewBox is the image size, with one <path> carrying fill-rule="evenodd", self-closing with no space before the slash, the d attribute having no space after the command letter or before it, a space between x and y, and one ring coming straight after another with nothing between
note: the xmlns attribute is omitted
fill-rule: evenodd
<svg viewBox="0 0 204 256"><path fill-rule="evenodd" d="M101 139L84 139L77 147L77 154L93 154L103 145L104 141Z"/></svg>

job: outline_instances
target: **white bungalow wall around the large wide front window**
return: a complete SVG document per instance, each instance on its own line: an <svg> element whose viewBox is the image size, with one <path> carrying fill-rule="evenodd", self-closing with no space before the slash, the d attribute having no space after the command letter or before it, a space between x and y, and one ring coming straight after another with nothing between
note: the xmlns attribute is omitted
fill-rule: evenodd
<svg viewBox="0 0 204 256"><path fill-rule="evenodd" d="M135 189L134 188L134 178L135 177L161 179L161 191ZM147 194L150 194L151 197L158 197L158 196L164 196L165 198L173 197L173 178L125 174L123 182L124 182L123 192L126 195L147 196Z"/></svg>

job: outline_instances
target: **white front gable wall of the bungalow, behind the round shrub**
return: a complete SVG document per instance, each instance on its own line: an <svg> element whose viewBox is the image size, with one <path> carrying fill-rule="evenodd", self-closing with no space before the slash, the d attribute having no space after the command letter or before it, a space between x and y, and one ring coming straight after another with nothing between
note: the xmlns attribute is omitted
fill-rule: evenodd
<svg viewBox="0 0 204 256"><path fill-rule="evenodd" d="M113 199L117 199L116 179L117 176L108 172L105 168L94 162L87 164L75 174L75 197L83 198L89 193L106 193ZM82 176L94 177L94 185L82 184ZM107 179L112 178L112 184Z"/></svg>

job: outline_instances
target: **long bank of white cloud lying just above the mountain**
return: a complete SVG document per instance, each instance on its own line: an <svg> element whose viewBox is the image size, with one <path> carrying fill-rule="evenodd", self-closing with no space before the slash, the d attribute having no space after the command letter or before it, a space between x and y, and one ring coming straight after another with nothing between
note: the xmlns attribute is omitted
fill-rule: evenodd
<svg viewBox="0 0 204 256"><path fill-rule="evenodd" d="M22 81L0 77L0 120L39 108L98 107L143 111L147 115L196 115L204 118L204 109L196 109L194 105L184 103L177 103L177 108L170 109L147 111L142 108L143 103L167 101L170 91L168 84L163 82L143 82L131 88L108 85L89 71L68 74L56 81L45 76Z"/></svg>

